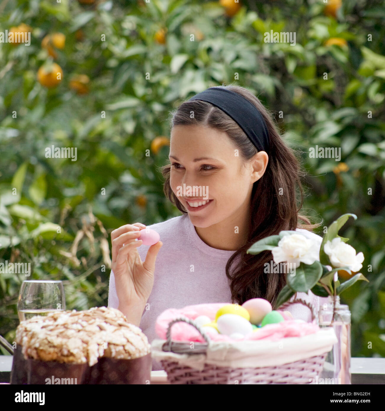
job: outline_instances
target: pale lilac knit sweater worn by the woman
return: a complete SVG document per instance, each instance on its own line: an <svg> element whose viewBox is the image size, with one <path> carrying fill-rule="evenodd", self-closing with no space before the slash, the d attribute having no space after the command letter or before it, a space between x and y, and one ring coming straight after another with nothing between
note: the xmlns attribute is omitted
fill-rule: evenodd
<svg viewBox="0 0 385 411"><path fill-rule="evenodd" d="M225 267L234 251L212 248L203 242L187 214L147 227L157 231L163 242L156 257L154 287L140 321L140 328L151 343L159 338L155 332L155 322L164 310L208 302L231 303ZM308 238L322 241L314 233L302 229L297 231ZM138 247L142 261L145 261L148 249L149 246L145 245ZM308 295L298 293L297 296L311 302L316 312L320 304L327 302L327 298L317 297L311 291ZM118 305L114 273L111 271L108 307L118 308ZM293 304L287 311L294 318L311 321L310 310L304 305ZM153 370L163 369L155 360L152 364Z"/></svg>

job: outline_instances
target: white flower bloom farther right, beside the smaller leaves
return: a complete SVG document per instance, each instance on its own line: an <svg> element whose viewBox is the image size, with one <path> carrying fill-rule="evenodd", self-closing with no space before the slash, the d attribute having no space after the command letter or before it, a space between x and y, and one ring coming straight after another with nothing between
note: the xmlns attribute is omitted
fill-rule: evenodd
<svg viewBox="0 0 385 411"><path fill-rule="evenodd" d="M327 241L324 245L324 252L336 268L349 267L352 272L358 272L362 268L364 254L360 252L356 255L356 250L351 245L341 241L339 237Z"/></svg>

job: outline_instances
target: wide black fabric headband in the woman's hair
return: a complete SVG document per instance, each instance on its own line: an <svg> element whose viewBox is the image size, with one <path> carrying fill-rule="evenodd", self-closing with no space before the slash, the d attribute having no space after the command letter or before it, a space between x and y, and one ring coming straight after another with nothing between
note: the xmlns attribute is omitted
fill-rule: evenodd
<svg viewBox="0 0 385 411"><path fill-rule="evenodd" d="M243 129L258 151L269 152L266 122L254 104L245 97L226 88L210 87L190 100L202 100L218 107Z"/></svg>

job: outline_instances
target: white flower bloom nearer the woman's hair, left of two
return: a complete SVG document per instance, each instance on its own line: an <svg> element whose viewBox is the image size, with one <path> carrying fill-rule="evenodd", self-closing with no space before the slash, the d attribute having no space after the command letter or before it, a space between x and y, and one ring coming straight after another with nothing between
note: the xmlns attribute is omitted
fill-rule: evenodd
<svg viewBox="0 0 385 411"><path fill-rule="evenodd" d="M275 263L287 261L295 264L313 264L319 260L320 243L306 238L302 234L292 234L282 237L278 247L271 250Z"/></svg>

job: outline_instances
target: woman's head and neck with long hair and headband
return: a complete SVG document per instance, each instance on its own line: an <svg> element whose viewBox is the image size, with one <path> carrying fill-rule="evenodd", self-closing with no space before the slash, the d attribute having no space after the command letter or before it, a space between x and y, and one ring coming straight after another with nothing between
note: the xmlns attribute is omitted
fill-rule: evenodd
<svg viewBox="0 0 385 411"><path fill-rule="evenodd" d="M205 94L213 89L226 91L223 102ZM233 99L226 100L228 95ZM165 194L189 214L206 244L236 251L226 266L235 300L241 304L258 296L274 302L285 285L284 277L268 279L258 274L271 254L256 259L246 250L261 238L301 227L299 219L307 229L317 226L298 213L303 191L293 150L259 99L239 86L205 90L171 113L171 123L170 159L177 163L162 169ZM186 197L176 194L181 184L208 186L210 206L191 207ZM230 274L237 255L243 262Z"/></svg>

